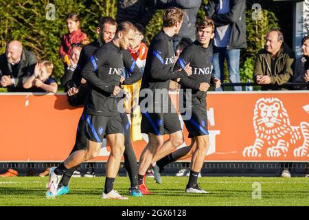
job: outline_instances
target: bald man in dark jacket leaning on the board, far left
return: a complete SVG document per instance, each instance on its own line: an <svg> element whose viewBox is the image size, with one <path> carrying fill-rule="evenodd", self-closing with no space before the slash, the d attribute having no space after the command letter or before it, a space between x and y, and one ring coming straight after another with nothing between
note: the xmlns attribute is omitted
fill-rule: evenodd
<svg viewBox="0 0 309 220"><path fill-rule="evenodd" d="M27 91L23 83L33 74L36 56L27 50L19 41L10 41L6 51L0 56L1 87L7 87L10 92Z"/></svg>

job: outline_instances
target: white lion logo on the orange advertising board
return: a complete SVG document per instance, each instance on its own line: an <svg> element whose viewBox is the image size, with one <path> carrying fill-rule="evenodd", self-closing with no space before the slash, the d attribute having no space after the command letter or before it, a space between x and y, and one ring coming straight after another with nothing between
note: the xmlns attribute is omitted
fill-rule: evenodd
<svg viewBox="0 0 309 220"><path fill-rule="evenodd" d="M260 98L255 104L253 125L256 139L242 151L244 157L309 157L309 123L291 126L288 113L278 98ZM294 151L289 151L293 148Z"/></svg>

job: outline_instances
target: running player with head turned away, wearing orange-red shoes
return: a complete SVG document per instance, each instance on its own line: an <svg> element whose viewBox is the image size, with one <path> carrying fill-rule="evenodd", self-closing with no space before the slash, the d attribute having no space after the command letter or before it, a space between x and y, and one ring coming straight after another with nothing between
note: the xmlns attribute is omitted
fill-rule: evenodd
<svg viewBox="0 0 309 220"><path fill-rule="evenodd" d="M139 159L139 189L143 195L150 192L144 175L152 159L161 159L183 143L179 117L171 103L168 89L170 80L190 76L192 69L187 63L174 71L172 37L179 32L183 22L183 10L169 8L163 15L163 29L152 39L141 81L139 104L141 107L141 133L147 133L149 142ZM147 93L147 97L146 96ZM163 97L161 97L163 96ZM163 135L170 139L163 141Z"/></svg>

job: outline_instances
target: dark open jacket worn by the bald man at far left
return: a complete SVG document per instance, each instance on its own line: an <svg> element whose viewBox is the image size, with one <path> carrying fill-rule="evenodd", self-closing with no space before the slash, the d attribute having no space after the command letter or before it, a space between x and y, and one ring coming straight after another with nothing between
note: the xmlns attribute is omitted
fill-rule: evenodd
<svg viewBox="0 0 309 220"><path fill-rule="evenodd" d="M21 55L21 61L17 64L16 71L12 71L12 65L8 63L6 54L0 55L0 75L11 76L14 78L15 85L8 87L8 91L27 91L23 89L23 83L29 76L34 73L34 67L36 65L36 56L27 50L23 50Z"/></svg>

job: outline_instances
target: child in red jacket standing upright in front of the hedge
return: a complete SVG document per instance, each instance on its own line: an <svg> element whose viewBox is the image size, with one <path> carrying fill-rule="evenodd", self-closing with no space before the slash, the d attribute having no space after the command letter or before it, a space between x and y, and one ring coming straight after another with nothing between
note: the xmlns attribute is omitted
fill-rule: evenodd
<svg viewBox="0 0 309 220"><path fill-rule="evenodd" d="M71 45L88 39L87 34L84 34L82 30L80 30L80 18L78 17L78 14L69 14L66 21L68 33L62 36L60 45L60 55L62 62L65 65L65 69L71 66Z"/></svg>

